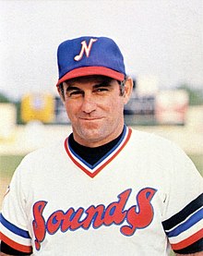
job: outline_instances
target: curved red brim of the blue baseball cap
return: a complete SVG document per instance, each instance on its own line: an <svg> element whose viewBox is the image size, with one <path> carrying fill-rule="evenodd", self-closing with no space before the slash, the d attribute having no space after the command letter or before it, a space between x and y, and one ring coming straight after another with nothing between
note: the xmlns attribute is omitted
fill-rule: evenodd
<svg viewBox="0 0 203 256"><path fill-rule="evenodd" d="M112 79L123 81L125 79L125 75L123 73L119 73L111 68L107 67L79 67L70 72L66 73L64 77L58 80L56 86L58 86L63 81L68 79L75 79L78 77L86 77L86 76L106 76Z"/></svg>

